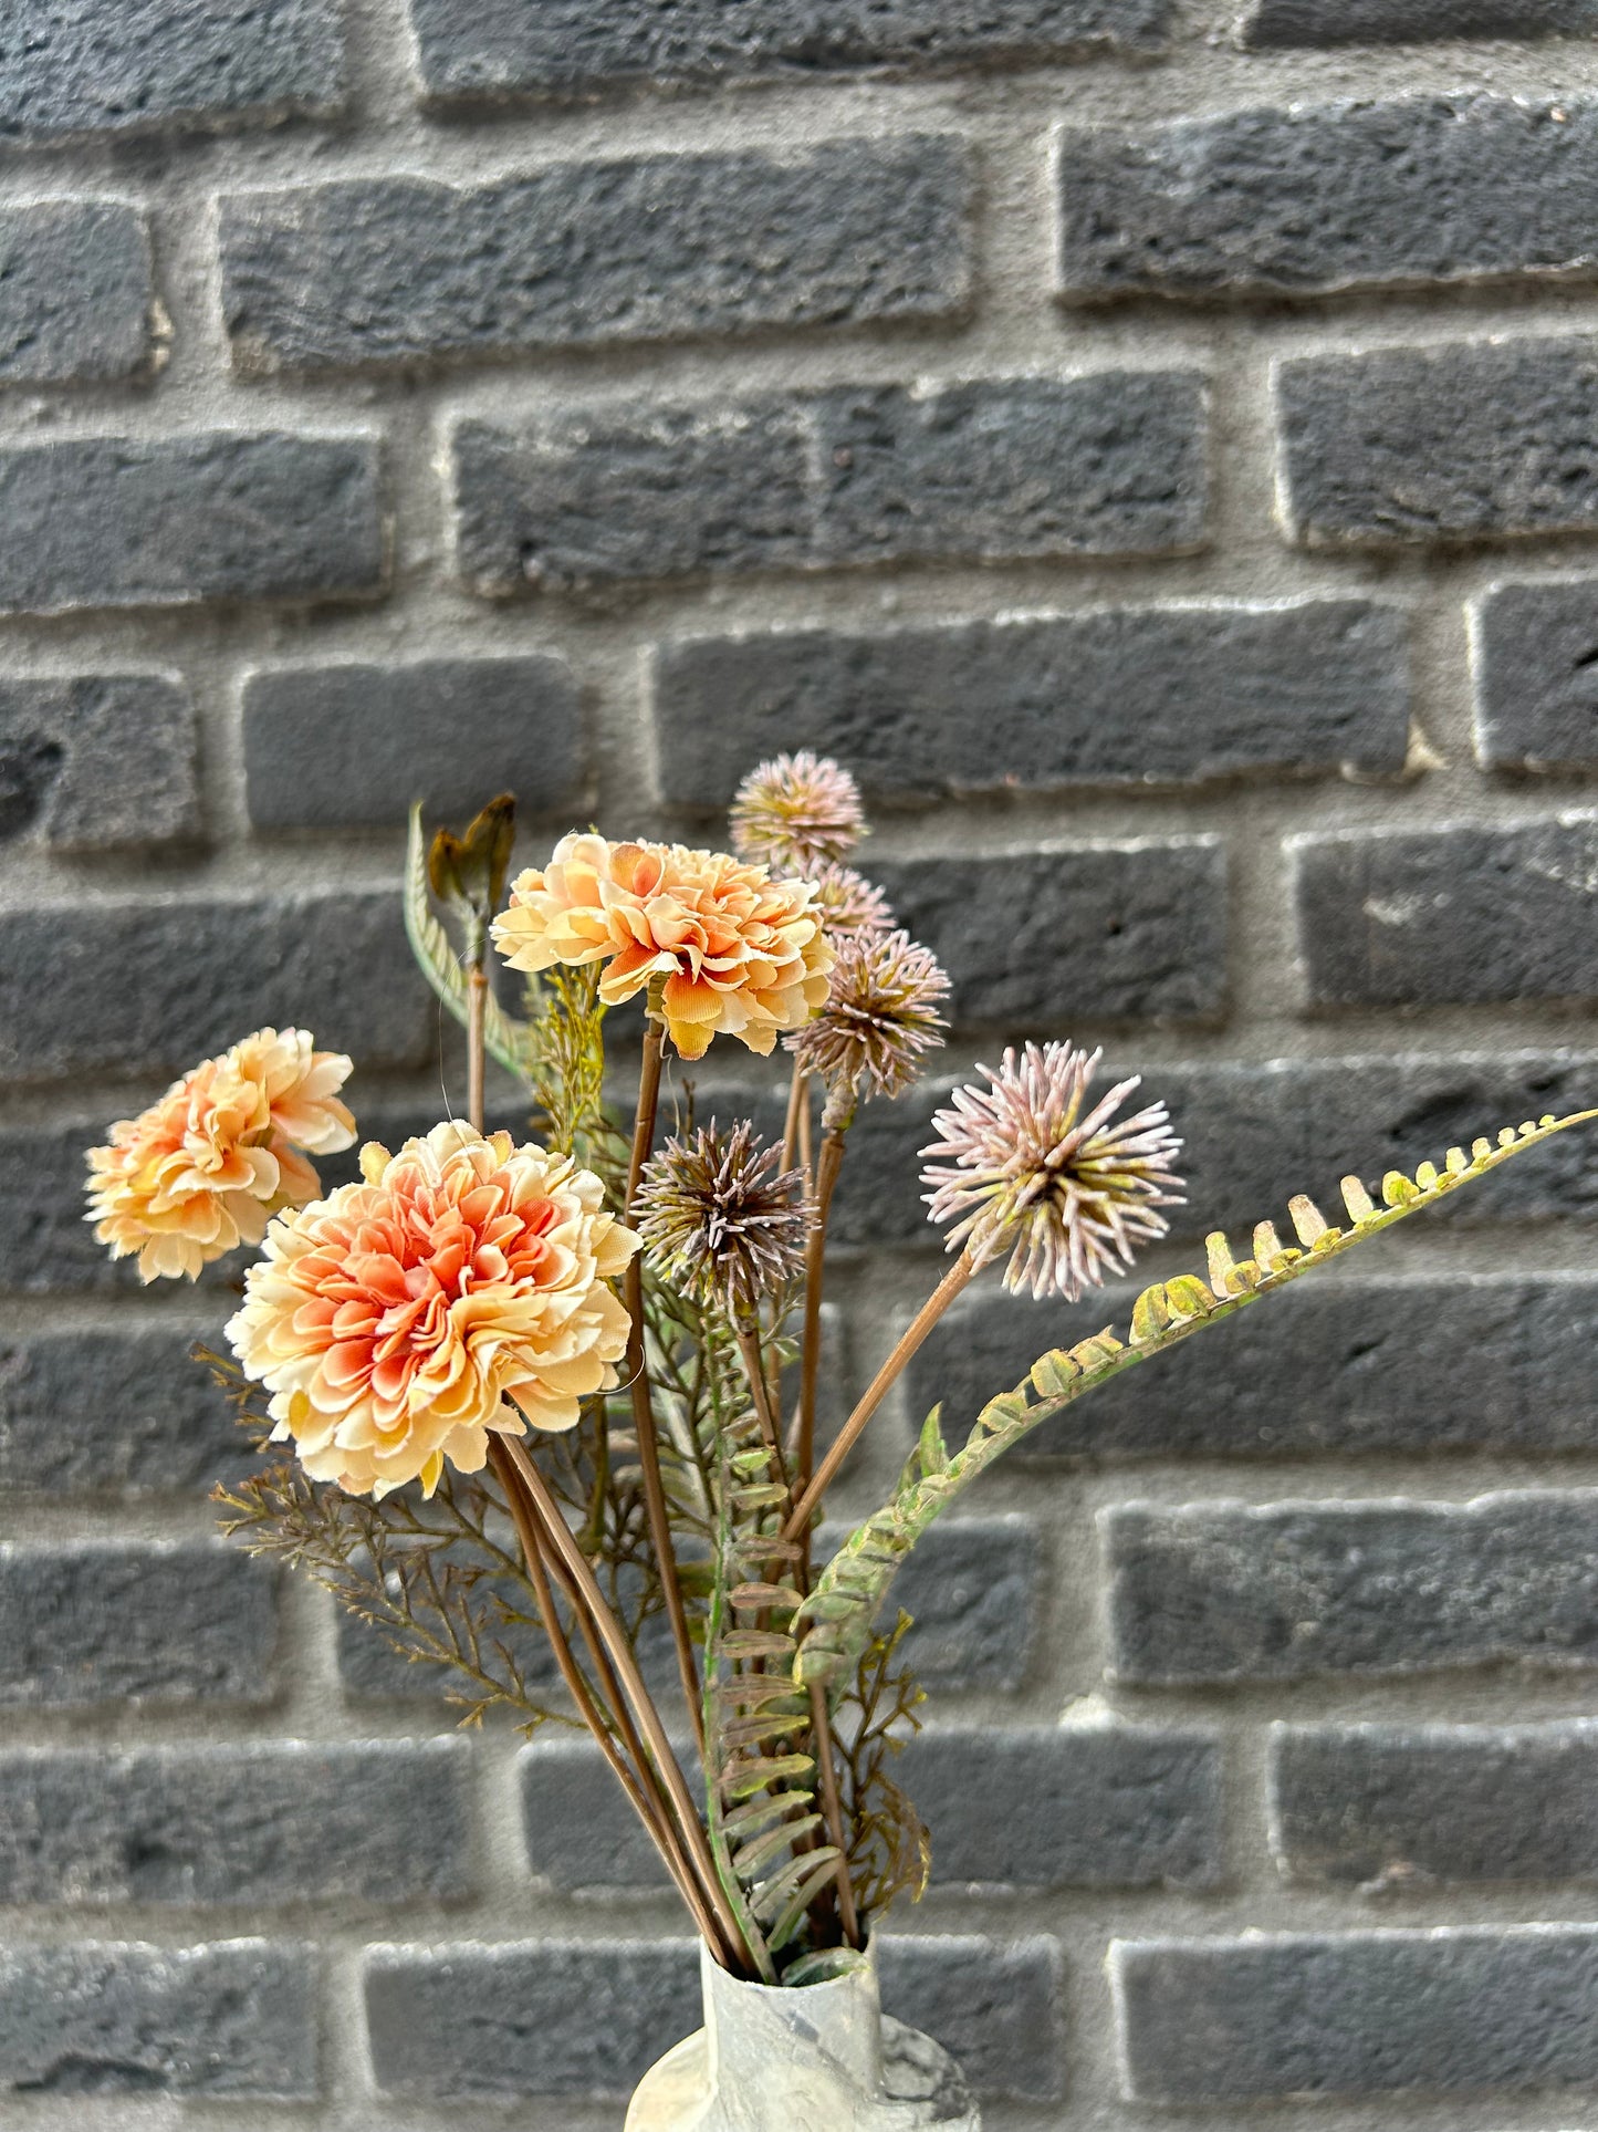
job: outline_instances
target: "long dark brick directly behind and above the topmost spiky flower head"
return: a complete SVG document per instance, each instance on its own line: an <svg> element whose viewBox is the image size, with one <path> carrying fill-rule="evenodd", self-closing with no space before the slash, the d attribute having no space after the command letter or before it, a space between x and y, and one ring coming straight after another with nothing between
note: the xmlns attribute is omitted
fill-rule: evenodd
<svg viewBox="0 0 1598 2132"><path fill-rule="evenodd" d="M1406 640L1398 608L1361 599L686 637L654 650L661 789L727 804L748 763L795 746L886 800L1389 776L1408 742Z"/></svg>

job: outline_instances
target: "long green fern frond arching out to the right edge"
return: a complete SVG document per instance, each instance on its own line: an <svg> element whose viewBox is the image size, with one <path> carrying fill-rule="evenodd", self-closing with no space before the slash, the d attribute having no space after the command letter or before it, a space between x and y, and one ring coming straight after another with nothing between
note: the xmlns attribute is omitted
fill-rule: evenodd
<svg viewBox="0 0 1598 2132"><path fill-rule="evenodd" d="M1357 1177L1344 1177L1347 1228L1330 1224L1312 1200L1298 1196L1289 1202L1295 1245L1281 1241L1274 1222L1261 1222L1253 1232L1249 1256L1234 1258L1227 1237L1217 1230L1206 1239L1208 1281L1180 1275L1144 1288L1131 1307L1125 1341L1106 1328L1074 1347L1040 1356L1023 1384L982 1407L965 1448L952 1458L944 1452L933 1411L893 1501L850 1533L795 1614L795 1622L810 1622L795 1663L799 1686L833 1682L859 1663L882 1597L916 1539L946 1503L952 1503L978 1473L1040 1422L1063 1414L1134 1362L1146 1362L1202 1332L1204 1326L1232 1318L1249 1303L1379 1237L1393 1222L1434 1207L1460 1185L1485 1177L1528 1147L1538 1147L1555 1132L1568 1132L1570 1126L1583 1126L1594 1117L1598 1111L1577 1111L1572 1117L1506 1126L1496 1141L1474 1141L1470 1153L1451 1147L1440 1164L1423 1162L1415 1177L1389 1170L1381 1181L1381 1205Z"/></svg>

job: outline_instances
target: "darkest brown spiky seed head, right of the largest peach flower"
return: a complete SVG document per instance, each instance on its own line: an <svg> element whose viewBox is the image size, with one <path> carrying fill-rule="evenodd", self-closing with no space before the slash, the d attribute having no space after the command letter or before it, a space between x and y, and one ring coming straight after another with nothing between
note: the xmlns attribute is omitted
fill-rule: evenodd
<svg viewBox="0 0 1598 2132"><path fill-rule="evenodd" d="M654 1269L695 1303L718 1303L735 1322L799 1279L810 1213L803 1173L782 1170L748 1119L714 1121L671 1138L646 1164L633 1226Z"/></svg>

